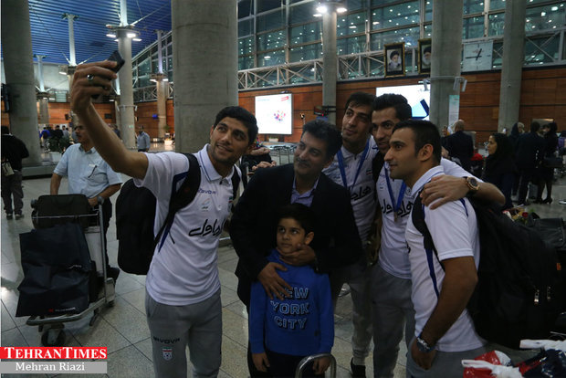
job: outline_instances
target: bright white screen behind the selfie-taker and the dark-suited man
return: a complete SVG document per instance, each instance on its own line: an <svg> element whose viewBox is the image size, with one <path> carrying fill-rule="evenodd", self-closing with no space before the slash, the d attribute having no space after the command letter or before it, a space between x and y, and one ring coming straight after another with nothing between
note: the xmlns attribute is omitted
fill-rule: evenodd
<svg viewBox="0 0 566 378"><path fill-rule="evenodd" d="M293 95L257 96L256 119L260 134L292 134Z"/></svg>

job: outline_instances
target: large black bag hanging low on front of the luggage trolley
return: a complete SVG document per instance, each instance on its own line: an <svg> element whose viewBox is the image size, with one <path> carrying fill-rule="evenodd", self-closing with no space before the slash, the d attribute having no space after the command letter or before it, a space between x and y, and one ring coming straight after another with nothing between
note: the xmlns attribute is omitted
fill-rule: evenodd
<svg viewBox="0 0 566 378"><path fill-rule="evenodd" d="M65 224L20 234L24 280L16 316L79 313L89 307L89 246L82 228Z"/></svg>

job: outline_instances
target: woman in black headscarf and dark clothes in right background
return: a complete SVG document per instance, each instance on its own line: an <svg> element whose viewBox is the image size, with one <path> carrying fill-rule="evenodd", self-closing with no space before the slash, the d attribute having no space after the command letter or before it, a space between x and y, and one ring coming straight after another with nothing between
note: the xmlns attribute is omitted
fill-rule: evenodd
<svg viewBox="0 0 566 378"><path fill-rule="evenodd" d="M505 195L504 209L513 207L511 203L511 188L515 181L514 153L509 138L505 134L494 133L487 142L486 168L482 179L496 185Z"/></svg>

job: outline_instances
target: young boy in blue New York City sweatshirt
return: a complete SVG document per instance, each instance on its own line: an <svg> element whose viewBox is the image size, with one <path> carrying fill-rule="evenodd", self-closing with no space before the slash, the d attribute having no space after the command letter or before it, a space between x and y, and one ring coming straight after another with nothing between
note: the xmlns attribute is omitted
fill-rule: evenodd
<svg viewBox="0 0 566 378"><path fill-rule="evenodd" d="M334 343L334 315L330 281L310 266L288 265L285 257L314 237L314 215L301 204L283 206L279 212L277 249L267 260L286 268L279 275L292 289L287 298L269 299L259 281L252 284L249 310L249 339L257 370L275 377L295 376L304 357L330 353ZM303 376L324 376L330 358L307 366Z"/></svg>

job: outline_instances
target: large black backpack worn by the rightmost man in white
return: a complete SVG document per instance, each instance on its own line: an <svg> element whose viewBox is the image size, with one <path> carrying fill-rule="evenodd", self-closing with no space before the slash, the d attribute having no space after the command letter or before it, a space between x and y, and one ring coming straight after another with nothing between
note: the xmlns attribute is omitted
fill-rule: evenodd
<svg viewBox="0 0 566 378"><path fill-rule="evenodd" d="M480 258L467 310L477 334L515 349L523 339L548 339L566 295L556 250L534 229L501 213L499 205L475 198L470 202L477 216ZM434 250L438 258L420 194L411 216L425 236L425 249Z"/></svg>

